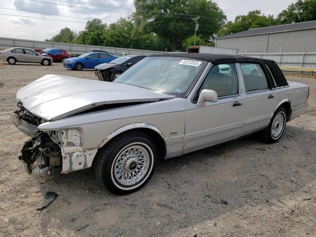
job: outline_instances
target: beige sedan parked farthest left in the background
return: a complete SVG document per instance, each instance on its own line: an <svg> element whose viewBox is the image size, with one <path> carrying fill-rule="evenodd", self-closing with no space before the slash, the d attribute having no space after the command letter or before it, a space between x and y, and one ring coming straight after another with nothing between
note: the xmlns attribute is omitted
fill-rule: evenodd
<svg viewBox="0 0 316 237"><path fill-rule="evenodd" d="M0 51L0 60L5 60L9 64L21 63L40 63L49 66L53 63L53 59L47 54L39 54L30 48L7 48Z"/></svg>

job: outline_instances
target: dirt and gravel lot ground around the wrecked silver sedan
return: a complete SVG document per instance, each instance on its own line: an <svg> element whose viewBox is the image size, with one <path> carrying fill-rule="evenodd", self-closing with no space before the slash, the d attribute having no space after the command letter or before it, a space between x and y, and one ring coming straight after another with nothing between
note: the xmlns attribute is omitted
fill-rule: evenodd
<svg viewBox="0 0 316 237"><path fill-rule="evenodd" d="M316 79L287 77L309 84L310 107L279 142L251 136L161 162L142 190L119 197L91 170L36 177L17 160L28 137L9 119L16 91L46 74L95 79L59 63L0 66L0 237L316 236ZM37 210L47 191L59 196Z"/></svg>

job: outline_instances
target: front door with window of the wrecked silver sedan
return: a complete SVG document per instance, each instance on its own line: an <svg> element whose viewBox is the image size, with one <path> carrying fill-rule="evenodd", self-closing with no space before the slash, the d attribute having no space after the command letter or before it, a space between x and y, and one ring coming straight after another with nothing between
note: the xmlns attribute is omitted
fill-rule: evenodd
<svg viewBox="0 0 316 237"><path fill-rule="evenodd" d="M203 89L215 90L218 101L206 102L202 107L197 107L195 101L187 101L184 153L233 140L242 134L244 101L240 96L236 65L213 66L197 96Z"/></svg>

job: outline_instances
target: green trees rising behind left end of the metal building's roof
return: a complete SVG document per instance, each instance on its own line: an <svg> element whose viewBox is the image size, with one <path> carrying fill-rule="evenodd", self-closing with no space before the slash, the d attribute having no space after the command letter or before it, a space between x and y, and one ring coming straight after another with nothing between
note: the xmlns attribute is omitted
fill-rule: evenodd
<svg viewBox="0 0 316 237"><path fill-rule="evenodd" d="M273 15L261 15L260 10L254 10L249 11L247 15L238 15L234 22L227 22L225 26L218 31L217 36L220 37L241 31L247 31L249 29L275 26L277 24L278 21L273 17Z"/></svg>

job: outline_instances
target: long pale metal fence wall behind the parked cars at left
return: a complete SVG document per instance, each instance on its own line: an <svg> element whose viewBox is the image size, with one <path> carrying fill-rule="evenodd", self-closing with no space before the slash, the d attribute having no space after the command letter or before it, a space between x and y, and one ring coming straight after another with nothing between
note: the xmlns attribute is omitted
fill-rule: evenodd
<svg viewBox="0 0 316 237"><path fill-rule="evenodd" d="M86 53L93 49L104 50L112 54L118 55L119 53L138 54L138 55L151 55L155 53L162 53L161 51L141 50L141 49L129 49L129 48L115 48L115 47L103 47L96 45L82 45L71 43L58 43L48 41L33 41L33 40L19 40L11 38L0 37L0 47L27 47L27 48L62 48L68 53Z"/></svg>

